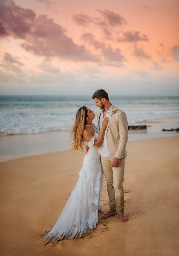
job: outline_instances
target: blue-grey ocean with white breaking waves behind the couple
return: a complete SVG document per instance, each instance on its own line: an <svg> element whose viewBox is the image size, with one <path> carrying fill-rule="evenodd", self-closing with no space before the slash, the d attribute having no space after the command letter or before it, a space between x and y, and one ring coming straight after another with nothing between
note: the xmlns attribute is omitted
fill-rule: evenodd
<svg viewBox="0 0 179 256"><path fill-rule="evenodd" d="M110 96L110 102L126 112L129 125L179 118L179 96ZM0 136L70 131L82 106L98 111L92 96L0 96Z"/></svg>

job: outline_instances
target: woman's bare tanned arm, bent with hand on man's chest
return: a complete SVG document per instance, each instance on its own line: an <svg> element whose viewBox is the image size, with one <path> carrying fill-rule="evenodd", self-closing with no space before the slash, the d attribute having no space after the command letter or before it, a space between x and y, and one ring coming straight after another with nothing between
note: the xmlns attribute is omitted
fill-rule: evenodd
<svg viewBox="0 0 179 256"><path fill-rule="evenodd" d="M101 144L102 144L102 142L103 142L104 133L105 133L105 130L106 130L106 128L107 128L108 119L109 119L108 117L104 118L104 120L103 120L103 122L102 122L102 128L101 128L101 132L100 132L100 134L99 134L99 137L98 137L97 140L95 139L95 142L94 142L94 144L93 144L93 145L95 145L95 146L98 147L98 148L101 146ZM92 139L93 134L92 134L90 131L88 131L88 130L85 129L84 132L83 132L83 137L84 137L84 140L86 140L87 142L89 142L89 141Z"/></svg>

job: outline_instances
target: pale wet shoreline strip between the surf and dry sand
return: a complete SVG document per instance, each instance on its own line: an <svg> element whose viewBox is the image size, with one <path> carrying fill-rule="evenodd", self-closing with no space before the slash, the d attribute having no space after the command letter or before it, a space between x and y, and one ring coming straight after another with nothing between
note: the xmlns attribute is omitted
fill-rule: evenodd
<svg viewBox="0 0 179 256"><path fill-rule="evenodd" d="M137 123L146 125L147 130L129 131L129 140L145 140L157 137L178 136L173 131L162 132L162 128L179 127L179 119L161 119L155 122ZM55 131L40 134L21 134L0 137L0 162L20 157L46 154L68 150L70 148L70 131Z"/></svg>

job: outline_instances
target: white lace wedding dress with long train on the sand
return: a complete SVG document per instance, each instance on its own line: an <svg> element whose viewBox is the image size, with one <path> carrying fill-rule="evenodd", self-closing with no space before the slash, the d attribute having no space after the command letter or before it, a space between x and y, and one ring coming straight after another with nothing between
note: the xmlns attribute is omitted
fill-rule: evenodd
<svg viewBox="0 0 179 256"><path fill-rule="evenodd" d="M89 142L90 148L84 157L83 166L75 187L55 225L41 238L52 242L63 239L81 238L94 230L98 223L98 210L102 208L103 169L100 154L94 140L98 138L98 129Z"/></svg>

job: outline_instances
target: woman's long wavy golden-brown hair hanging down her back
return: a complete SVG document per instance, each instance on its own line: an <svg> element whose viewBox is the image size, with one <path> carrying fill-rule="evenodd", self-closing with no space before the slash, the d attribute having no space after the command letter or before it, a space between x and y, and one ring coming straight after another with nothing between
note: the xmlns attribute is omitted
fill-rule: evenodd
<svg viewBox="0 0 179 256"><path fill-rule="evenodd" d="M75 122L73 124L73 128L70 133L73 140L73 143L71 144L71 146L74 151L77 151L77 150L83 151L84 139L82 134L84 131L86 118L88 116L87 113L88 111L85 106L79 108L76 113Z"/></svg>

